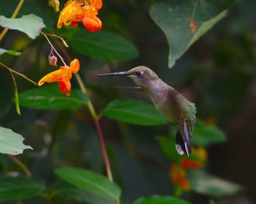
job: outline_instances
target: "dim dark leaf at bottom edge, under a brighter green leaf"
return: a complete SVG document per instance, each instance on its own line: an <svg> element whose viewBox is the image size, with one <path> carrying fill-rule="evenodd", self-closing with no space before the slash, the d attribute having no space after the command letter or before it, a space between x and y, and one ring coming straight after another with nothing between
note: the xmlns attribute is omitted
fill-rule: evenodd
<svg viewBox="0 0 256 204"><path fill-rule="evenodd" d="M85 190L81 190L76 187L65 187L54 191L56 196L59 196L65 200L74 199L80 202L95 203L95 204L111 204L112 202L95 196L95 194L88 193Z"/></svg>

